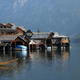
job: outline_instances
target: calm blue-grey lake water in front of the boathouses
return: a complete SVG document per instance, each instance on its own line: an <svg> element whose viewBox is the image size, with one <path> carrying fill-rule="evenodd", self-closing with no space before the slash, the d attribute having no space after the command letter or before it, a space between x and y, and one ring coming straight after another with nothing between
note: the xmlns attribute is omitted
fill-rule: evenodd
<svg viewBox="0 0 80 80"><path fill-rule="evenodd" d="M0 80L80 80L80 46L73 45L70 51L30 52L24 61L0 66Z"/></svg>

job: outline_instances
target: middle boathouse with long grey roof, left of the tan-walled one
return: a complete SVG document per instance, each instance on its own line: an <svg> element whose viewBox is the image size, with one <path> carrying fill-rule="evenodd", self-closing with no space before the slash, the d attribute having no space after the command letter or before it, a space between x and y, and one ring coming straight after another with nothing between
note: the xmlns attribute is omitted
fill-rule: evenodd
<svg viewBox="0 0 80 80"><path fill-rule="evenodd" d="M51 45L51 36L54 35L54 33L48 33L48 32L33 32L33 35L31 37L31 42L29 43L30 49L45 49L46 46ZM49 43L48 43L49 41Z"/></svg>

